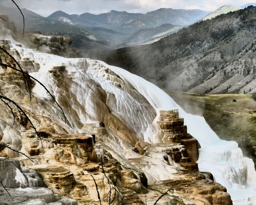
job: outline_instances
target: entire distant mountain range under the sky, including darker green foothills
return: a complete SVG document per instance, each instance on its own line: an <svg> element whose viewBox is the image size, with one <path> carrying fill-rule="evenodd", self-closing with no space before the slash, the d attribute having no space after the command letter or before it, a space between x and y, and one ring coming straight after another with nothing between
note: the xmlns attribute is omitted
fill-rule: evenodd
<svg viewBox="0 0 256 205"><path fill-rule="evenodd" d="M146 14L112 10L99 15L69 15L56 11L45 18L27 9L22 9L22 12L26 19L25 30L70 35L73 38L73 48L81 53L156 41L210 13L201 10L163 8ZM15 8L2 6L0 13L12 14L9 19L13 20L20 30L22 29L21 14Z"/></svg>

